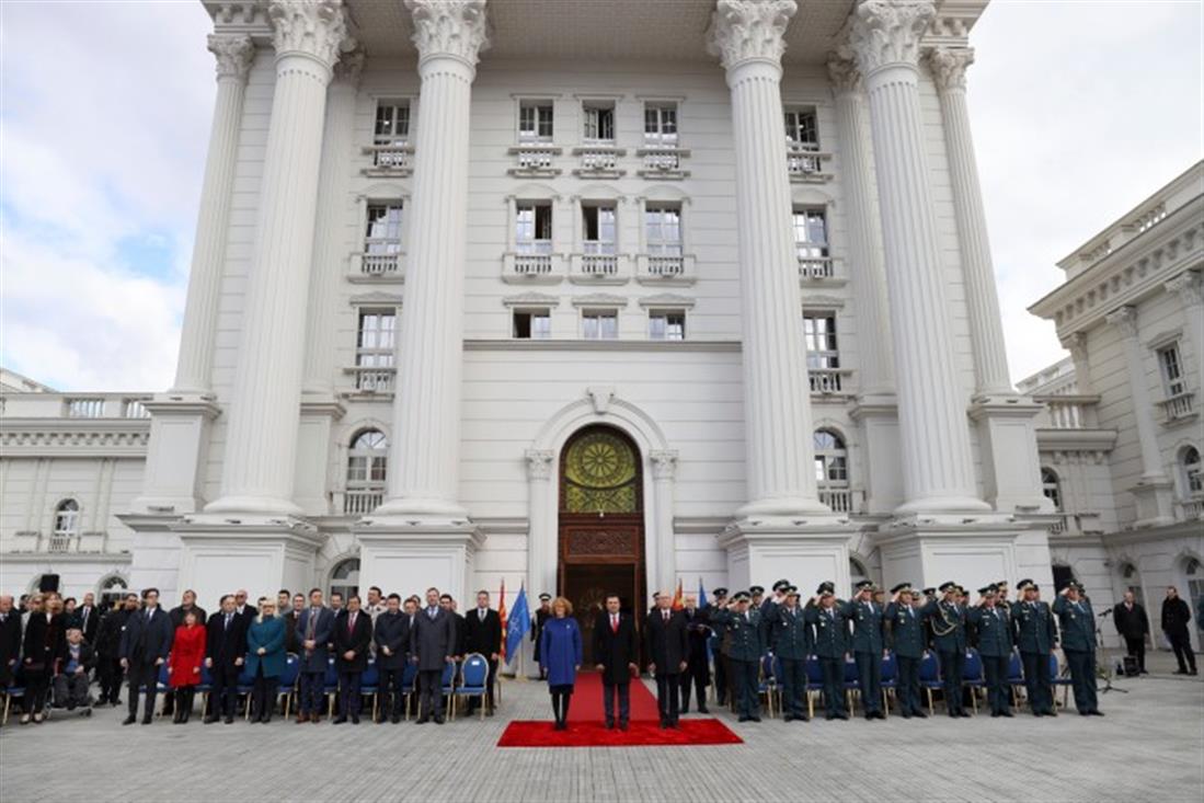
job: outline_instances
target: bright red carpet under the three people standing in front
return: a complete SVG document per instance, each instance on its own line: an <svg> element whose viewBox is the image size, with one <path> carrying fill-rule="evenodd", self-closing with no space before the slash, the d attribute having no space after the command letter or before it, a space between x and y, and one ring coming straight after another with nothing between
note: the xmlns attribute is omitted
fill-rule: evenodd
<svg viewBox="0 0 1204 803"><path fill-rule="evenodd" d="M551 699L548 699L551 713ZM498 748L643 748L659 745L740 744L716 719L683 718L680 730L660 727L656 697L644 684L631 684L631 726L627 731L606 730L602 713L602 678L585 672L577 675L573 702L568 708L568 730L554 731L551 720L510 722Z"/></svg>

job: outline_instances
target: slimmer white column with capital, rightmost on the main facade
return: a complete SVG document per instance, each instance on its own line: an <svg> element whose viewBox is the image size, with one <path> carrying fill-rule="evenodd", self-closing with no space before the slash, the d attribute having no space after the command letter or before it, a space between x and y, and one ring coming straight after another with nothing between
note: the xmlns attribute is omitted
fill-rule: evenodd
<svg viewBox="0 0 1204 803"><path fill-rule="evenodd" d="M938 48L928 55L928 66L940 98L949 175L954 184L954 214L966 278L976 392L979 396L1015 395L1008 373L1003 320L995 288L986 212L982 211L982 188L966 106L966 69L973 63L974 51L969 48Z"/></svg>

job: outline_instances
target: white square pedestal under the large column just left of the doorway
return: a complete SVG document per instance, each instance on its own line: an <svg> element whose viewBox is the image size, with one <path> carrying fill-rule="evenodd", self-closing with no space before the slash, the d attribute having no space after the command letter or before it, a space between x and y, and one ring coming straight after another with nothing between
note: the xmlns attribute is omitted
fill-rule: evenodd
<svg viewBox="0 0 1204 803"><path fill-rule="evenodd" d="M429 588L466 604L473 561L484 536L477 525L427 525L364 519L352 526L360 549L360 586L399 594Z"/></svg>

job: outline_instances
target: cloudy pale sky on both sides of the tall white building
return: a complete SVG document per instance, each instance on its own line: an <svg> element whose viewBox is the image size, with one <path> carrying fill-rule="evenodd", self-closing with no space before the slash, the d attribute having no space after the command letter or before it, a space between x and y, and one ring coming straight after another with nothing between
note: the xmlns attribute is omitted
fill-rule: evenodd
<svg viewBox="0 0 1204 803"><path fill-rule="evenodd" d="M550 0L549 0L550 1ZM0 364L172 380L213 102L195 0L0 2ZM1202 2L995 0L969 102L1014 379L1054 262L1200 158Z"/></svg>

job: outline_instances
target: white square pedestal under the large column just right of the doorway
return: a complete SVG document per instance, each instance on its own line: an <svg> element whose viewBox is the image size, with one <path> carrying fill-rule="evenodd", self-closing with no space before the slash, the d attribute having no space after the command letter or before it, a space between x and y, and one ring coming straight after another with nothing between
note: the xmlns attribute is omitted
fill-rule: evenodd
<svg viewBox="0 0 1204 803"><path fill-rule="evenodd" d="M857 525L831 514L797 525L733 521L719 536L719 545L727 550L727 584L734 592L754 583L769 588L786 578L804 596L825 581L846 589L849 541L856 532Z"/></svg>

